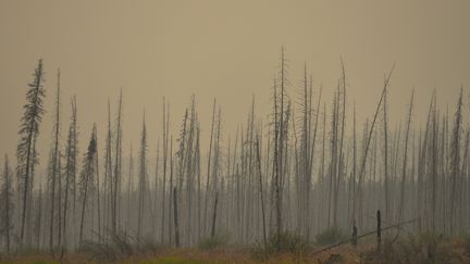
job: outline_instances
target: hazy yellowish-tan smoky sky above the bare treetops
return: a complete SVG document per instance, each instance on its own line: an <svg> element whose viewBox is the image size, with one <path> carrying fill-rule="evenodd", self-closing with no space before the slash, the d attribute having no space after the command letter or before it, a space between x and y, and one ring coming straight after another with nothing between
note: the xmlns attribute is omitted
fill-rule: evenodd
<svg viewBox="0 0 470 264"><path fill-rule="evenodd" d="M15 154L25 92L39 58L47 71L48 96L39 142L42 161L51 137L58 67L63 138L70 97L76 95L82 146L94 122L103 141L107 100L111 99L114 112L120 88L126 150L131 140L138 142L145 108L154 152L163 96L171 103L172 125L180 126L184 108L196 93L203 137L217 97L224 134L235 134L237 124L246 121L252 95L259 116L265 117L282 46L289 60L293 98L306 62L316 90L322 84L330 104L343 58L348 108L356 101L358 120L363 122L373 114L383 75L396 62L391 118L395 123L405 118L415 87L415 118L422 122L434 88L440 104L449 103L453 112L461 85L468 99L469 14L468 0L1 0L0 153Z"/></svg>

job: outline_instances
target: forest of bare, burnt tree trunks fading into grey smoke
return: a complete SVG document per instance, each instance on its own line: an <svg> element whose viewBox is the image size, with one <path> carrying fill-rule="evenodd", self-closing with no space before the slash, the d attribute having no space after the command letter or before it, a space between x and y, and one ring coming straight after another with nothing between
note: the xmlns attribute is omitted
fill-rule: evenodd
<svg viewBox="0 0 470 264"><path fill-rule="evenodd" d="M101 263L178 250L215 252L217 259L236 249L249 252L247 260L234 259L244 263L281 253L293 255L287 262L358 263L348 259L355 254L360 263L397 263L393 257L405 251L416 257L399 256L405 263L469 261L468 90L461 87L447 109L434 92L426 118L417 120L420 95L409 89L406 115L394 124L391 65L378 84L374 112L360 121L361 102L348 101L343 61L336 87L313 85L307 65L298 85L288 63L283 48L263 91L270 113L257 112L252 97L236 130L224 129L231 121L217 98L202 128L193 95L183 116L158 99L162 114L144 111L140 138L133 140L123 134L125 90L103 102L108 113L98 114L107 115L106 124L82 130L79 105L87 98L62 98L61 70L46 78L42 60L24 65L35 70L17 105L17 149L0 166L1 259L85 255ZM46 96L53 109L45 109ZM41 125L46 112L53 127ZM158 135L148 134L149 122L158 123ZM39 159L38 135L50 130L49 152ZM158 138L156 160L149 137ZM455 259L449 248L458 247L463 253Z"/></svg>

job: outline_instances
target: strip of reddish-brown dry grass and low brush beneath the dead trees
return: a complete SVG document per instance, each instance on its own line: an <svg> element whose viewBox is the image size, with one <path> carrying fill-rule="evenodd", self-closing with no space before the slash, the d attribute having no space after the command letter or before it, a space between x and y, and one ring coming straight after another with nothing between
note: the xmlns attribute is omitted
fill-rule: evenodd
<svg viewBox="0 0 470 264"><path fill-rule="evenodd" d="M0 264L52 264L52 263L119 263L119 264L224 264L224 263L470 263L470 247L466 239L441 239L435 242L435 250L423 238L403 238L393 243L384 243L382 252L376 252L375 244L363 243L358 248L344 244L334 250L316 254L313 249L299 253L270 254L260 260L253 257L248 249L225 248L215 250L161 249L156 253L136 253L115 262L91 261L87 254L69 254L62 260L51 254L29 254L1 256ZM430 254L430 249L432 254Z"/></svg>

